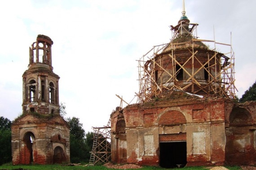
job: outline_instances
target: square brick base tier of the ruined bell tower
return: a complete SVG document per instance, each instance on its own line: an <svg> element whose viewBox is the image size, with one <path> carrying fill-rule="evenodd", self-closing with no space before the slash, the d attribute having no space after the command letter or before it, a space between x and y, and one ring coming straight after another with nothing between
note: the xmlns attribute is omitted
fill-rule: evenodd
<svg viewBox="0 0 256 170"><path fill-rule="evenodd" d="M61 139L51 140L59 133ZM62 161L69 162L69 140L69 128L61 117L47 120L24 115L12 124L13 164L52 164L56 144L65 148Z"/></svg>

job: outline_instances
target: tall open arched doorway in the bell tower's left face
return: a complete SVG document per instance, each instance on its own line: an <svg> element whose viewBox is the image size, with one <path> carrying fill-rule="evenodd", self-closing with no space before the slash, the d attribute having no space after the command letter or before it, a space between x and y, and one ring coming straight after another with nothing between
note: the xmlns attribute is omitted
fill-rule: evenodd
<svg viewBox="0 0 256 170"><path fill-rule="evenodd" d="M35 136L32 132L26 132L23 137L25 144L23 154L24 154L24 164L31 164L33 162L33 142L35 141Z"/></svg>

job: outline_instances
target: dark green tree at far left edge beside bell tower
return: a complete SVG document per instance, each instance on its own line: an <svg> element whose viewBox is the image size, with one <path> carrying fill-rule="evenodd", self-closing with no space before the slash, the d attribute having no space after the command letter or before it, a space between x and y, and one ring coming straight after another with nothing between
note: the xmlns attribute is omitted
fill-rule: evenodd
<svg viewBox="0 0 256 170"><path fill-rule="evenodd" d="M12 160L12 131L11 121L0 117L0 165Z"/></svg>

